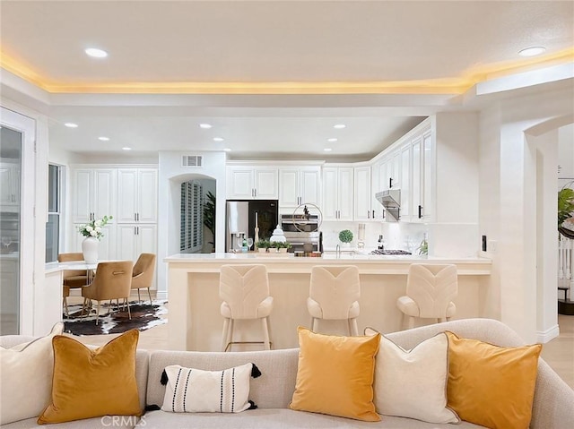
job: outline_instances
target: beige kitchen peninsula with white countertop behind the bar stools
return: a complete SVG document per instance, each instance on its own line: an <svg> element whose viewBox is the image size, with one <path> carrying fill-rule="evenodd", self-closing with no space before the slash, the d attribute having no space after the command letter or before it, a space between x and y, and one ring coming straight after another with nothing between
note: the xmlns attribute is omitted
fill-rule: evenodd
<svg viewBox="0 0 574 429"><path fill-rule="evenodd" d="M454 319L483 316L484 285L491 274L490 259L442 259L414 255L342 253L305 258L293 257L292 254L180 253L165 258L164 262L168 264L170 349L198 351L215 351L221 347L223 318L220 313L219 270L223 264L265 264L271 296L274 296L274 309L269 316L273 348L298 347L297 327L309 327L306 302L314 265L356 265L359 268L361 314L357 322L360 332L366 326L381 332L401 329L402 313L396 307L396 299L404 295L406 274L412 263L457 265L458 296ZM260 339L259 322L241 322L248 326L241 330L243 336L239 340ZM346 333L343 322L319 321L318 330ZM233 349L241 347L260 348L235 346Z"/></svg>

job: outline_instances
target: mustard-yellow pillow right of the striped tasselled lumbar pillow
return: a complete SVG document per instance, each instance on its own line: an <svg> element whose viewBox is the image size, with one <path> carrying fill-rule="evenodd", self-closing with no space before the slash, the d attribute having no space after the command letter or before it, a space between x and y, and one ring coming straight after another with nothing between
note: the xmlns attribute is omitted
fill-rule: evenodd
<svg viewBox="0 0 574 429"><path fill-rule="evenodd" d="M299 327L299 367L289 408L378 422L373 404L380 334L336 337Z"/></svg>

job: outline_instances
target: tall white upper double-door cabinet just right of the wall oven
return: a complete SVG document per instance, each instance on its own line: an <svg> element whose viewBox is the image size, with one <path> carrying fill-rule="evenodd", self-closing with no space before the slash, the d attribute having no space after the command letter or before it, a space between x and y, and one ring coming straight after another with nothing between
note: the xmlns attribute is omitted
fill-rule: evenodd
<svg viewBox="0 0 574 429"><path fill-rule="evenodd" d="M353 168L323 168L323 219L352 220Z"/></svg>

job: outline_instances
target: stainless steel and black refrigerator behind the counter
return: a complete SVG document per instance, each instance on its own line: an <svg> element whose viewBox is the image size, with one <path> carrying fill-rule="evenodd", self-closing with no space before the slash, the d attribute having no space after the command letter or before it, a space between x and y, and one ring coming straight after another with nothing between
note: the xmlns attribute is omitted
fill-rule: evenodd
<svg viewBox="0 0 574 429"><path fill-rule="evenodd" d="M254 241L255 227L259 228L259 239L268 240L278 221L277 200L228 201L225 208L225 249L240 252L243 237ZM250 250L254 247L251 246Z"/></svg>

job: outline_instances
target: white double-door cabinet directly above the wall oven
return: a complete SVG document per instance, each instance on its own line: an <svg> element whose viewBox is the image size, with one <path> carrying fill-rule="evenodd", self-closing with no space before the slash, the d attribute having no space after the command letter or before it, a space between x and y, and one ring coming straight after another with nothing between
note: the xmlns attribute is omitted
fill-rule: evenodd
<svg viewBox="0 0 574 429"><path fill-rule="evenodd" d="M321 167L284 167L279 169L279 208L321 202Z"/></svg>

